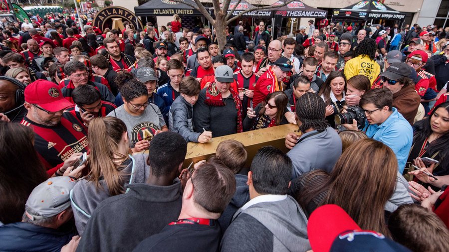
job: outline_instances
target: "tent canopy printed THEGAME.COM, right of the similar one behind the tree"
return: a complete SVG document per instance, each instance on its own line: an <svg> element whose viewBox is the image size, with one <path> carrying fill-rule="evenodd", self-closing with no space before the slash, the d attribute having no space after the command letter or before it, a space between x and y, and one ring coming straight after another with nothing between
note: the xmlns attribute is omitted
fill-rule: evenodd
<svg viewBox="0 0 449 252"><path fill-rule="evenodd" d="M325 18L327 16L327 10L317 9L309 5L304 4L302 1L292 1L285 6L276 8L276 5L283 4L283 1L277 1L273 3L273 9L275 15L282 17L318 17Z"/></svg>

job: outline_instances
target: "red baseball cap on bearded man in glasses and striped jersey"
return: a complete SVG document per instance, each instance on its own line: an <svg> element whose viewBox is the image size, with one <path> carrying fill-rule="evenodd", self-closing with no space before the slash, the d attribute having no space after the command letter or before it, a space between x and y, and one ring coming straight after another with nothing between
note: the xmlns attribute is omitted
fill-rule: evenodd
<svg viewBox="0 0 449 252"><path fill-rule="evenodd" d="M58 85L47 80L37 80L26 86L25 102L39 105L50 112L58 112L73 105L62 96Z"/></svg>

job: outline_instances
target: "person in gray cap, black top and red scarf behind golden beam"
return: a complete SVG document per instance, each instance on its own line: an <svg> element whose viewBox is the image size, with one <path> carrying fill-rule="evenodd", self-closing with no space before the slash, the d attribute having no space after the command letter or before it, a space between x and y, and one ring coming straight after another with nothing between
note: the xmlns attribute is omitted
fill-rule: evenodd
<svg viewBox="0 0 449 252"><path fill-rule="evenodd" d="M194 106L196 132L212 131L212 136L223 136L243 131L242 106L237 92L230 89L233 71L227 66L215 70L215 82L200 92Z"/></svg>

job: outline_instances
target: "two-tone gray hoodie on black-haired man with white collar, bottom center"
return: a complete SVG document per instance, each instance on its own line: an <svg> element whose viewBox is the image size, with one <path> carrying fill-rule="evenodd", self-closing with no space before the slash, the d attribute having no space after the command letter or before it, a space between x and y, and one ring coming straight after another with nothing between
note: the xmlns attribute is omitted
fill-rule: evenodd
<svg viewBox="0 0 449 252"><path fill-rule="evenodd" d="M310 250L307 218L298 203L291 196L285 196L283 200L240 208L225 232L221 251Z"/></svg>

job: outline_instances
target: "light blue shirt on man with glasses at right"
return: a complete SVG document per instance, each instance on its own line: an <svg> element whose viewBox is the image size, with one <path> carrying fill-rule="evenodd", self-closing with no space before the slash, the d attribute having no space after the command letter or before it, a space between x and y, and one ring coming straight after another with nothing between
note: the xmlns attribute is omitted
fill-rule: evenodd
<svg viewBox="0 0 449 252"><path fill-rule="evenodd" d="M368 121L366 124L368 125ZM413 129L398 110L393 108L393 114L382 124L368 125L366 135L383 142L395 152L398 159L398 170L402 174L412 148Z"/></svg>

